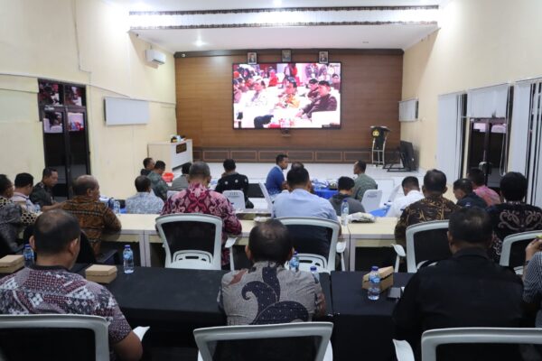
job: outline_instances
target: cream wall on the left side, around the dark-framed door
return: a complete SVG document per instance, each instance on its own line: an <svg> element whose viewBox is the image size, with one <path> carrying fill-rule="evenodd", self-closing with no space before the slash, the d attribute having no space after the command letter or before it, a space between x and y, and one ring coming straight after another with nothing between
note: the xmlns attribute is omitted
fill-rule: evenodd
<svg viewBox="0 0 542 361"><path fill-rule="evenodd" d="M0 0L0 173L41 176L37 79L56 79L87 85L90 168L102 193L134 193L146 143L176 133L175 76L173 54L148 64L152 44L127 30L127 14L102 0ZM150 101L149 124L106 126L106 96Z"/></svg>

